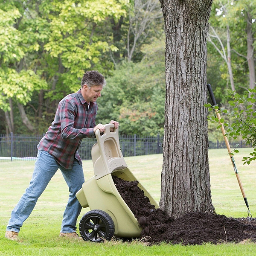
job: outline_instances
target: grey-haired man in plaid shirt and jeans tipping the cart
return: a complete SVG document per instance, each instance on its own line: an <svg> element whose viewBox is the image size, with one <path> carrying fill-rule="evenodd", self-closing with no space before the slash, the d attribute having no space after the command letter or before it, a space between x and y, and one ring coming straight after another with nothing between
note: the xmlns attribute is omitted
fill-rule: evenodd
<svg viewBox="0 0 256 256"><path fill-rule="evenodd" d="M97 129L105 131L104 125L95 123L98 109L96 100L101 96L105 84L102 74L95 70L88 71L82 78L81 88L59 102L54 121L37 146L38 155L32 179L12 211L6 227L6 238L19 240L20 227L29 217L52 176L60 169L70 191L60 236L82 239L76 233L76 221L81 212L76 192L84 183L78 148L83 138L95 137ZM118 122L111 120L111 123L118 128Z"/></svg>

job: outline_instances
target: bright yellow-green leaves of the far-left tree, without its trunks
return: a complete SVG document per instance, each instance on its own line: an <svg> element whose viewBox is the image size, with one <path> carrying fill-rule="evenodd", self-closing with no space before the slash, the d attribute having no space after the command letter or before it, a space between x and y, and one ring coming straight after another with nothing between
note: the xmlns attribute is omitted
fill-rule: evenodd
<svg viewBox="0 0 256 256"><path fill-rule="evenodd" d="M15 8L0 10L0 108L9 111L9 98L26 105L31 101L34 90L46 89L47 84L31 69L20 70L17 63L25 58L27 36L13 26L21 19L20 11Z"/></svg>

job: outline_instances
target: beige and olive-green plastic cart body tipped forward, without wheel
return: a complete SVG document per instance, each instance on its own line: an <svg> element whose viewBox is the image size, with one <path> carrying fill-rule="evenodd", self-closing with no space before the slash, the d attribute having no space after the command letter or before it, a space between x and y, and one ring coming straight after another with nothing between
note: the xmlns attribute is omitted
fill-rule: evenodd
<svg viewBox="0 0 256 256"><path fill-rule="evenodd" d="M97 143L92 147L94 176L84 182L76 197L82 207L108 213L113 219L115 236L140 237L141 229L137 218L122 199L112 179L112 175L115 175L123 180L137 180L125 163L119 145L118 129L113 127L112 124L105 125L103 135L99 130L96 131ZM138 186L150 203L158 208L157 202L139 181Z"/></svg>

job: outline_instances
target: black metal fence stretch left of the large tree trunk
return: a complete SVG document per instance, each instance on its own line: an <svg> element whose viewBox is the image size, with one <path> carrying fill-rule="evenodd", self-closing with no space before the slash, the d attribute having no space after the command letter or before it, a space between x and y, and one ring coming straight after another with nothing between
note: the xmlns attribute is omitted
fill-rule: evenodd
<svg viewBox="0 0 256 256"><path fill-rule="evenodd" d="M0 161L14 160L35 160L37 155L37 145L42 135L22 135L22 134L0 134ZM163 138L119 136L119 143L124 157L160 154L162 150ZM84 139L79 148L82 160L91 159L91 148L96 143L96 139Z"/></svg>

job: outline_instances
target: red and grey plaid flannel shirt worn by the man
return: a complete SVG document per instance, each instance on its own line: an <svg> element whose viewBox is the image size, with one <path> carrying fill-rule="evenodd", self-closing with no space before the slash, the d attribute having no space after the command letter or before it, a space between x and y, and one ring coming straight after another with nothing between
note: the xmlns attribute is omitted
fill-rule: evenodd
<svg viewBox="0 0 256 256"><path fill-rule="evenodd" d="M81 89L62 99L52 125L37 146L38 150L48 151L66 169L72 169L75 158L82 165L78 148L83 138L95 137L93 128L98 106L96 102L90 102L87 108Z"/></svg>

